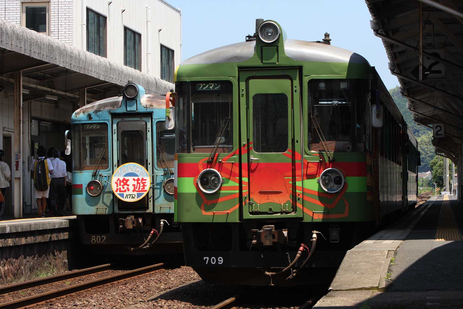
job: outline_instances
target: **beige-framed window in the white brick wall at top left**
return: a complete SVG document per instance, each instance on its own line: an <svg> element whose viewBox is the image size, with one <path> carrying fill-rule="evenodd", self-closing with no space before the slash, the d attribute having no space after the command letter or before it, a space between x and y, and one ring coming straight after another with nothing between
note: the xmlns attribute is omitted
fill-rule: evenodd
<svg viewBox="0 0 463 309"><path fill-rule="evenodd" d="M45 35L50 35L50 2L23 2L21 25Z"/></svg>

